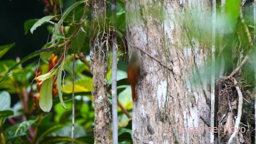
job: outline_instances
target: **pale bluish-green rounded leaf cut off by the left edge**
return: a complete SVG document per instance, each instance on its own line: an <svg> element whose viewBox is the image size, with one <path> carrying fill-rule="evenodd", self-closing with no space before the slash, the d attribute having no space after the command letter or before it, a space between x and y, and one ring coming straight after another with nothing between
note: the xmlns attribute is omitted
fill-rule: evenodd
<svg viewBox="0 0 256 144"><path fill-rule="evenodd" d="M10 110L11 108L11 96L8 92L0 92L0 110Z"/></svg>

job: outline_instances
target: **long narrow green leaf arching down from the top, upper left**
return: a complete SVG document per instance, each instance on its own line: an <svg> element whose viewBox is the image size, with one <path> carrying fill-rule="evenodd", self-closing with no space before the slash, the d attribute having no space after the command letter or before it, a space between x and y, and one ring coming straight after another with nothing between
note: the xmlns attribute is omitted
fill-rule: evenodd
<svg viewBox="0 0 256 144"><path fill-rule="evenodd" d="M69 8L67 8L65 10L65 12L63 13L62 17L60 18L59 22L57 23L57 25L55 26L55 30L54 30L54 33L52 34L52 43L55 44L55 40L56 40L56 36L57 36L57 33L59 31L59 28L63 22L63 20L66 18L66 16L68 16L68 14L73 10L73 8L75 8L76 6L78 6L79 4L82 4L86 2L85 0L81 0L81 1L78 1L76 3L74 3L72 6L70 6Z"/></svg>

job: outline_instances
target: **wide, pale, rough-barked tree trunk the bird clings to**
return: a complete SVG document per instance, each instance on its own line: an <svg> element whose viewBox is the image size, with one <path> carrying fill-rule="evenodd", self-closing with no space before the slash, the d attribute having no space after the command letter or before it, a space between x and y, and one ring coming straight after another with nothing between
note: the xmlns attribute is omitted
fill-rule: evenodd
<svg viewBox="0 0 256 144"><path fill-rule="evenodd" d="M181 1L164 0L164 27L161 20L161 2L148 0L126 0L126 32L128 48L139 47L162 63L164 40L168 66L173 70L168 74L168 104L178 140L181 144L189 140L192 144L209 143L207 128L210 123L210 86L206 78L200 78L201 70L210 59L211 2L205 0L186 0L184 8L188 20L188 29L193 30L188 40L188 124L185 108L185 79ZM195 20L196 18L196 20ZM194 21L193 21L194 19ZM192 25L193 24L193 25ZM164 32L164 33L163 33ZM129 44L130 43L130 44ZM150 56L140 51L142 57L142 76L136 86L138 100L133 103L132 135L134 144L172 144L174 136L169 132L170 124L164 112L166 100L166 68ZM195 83L197 79L198 83ZM204 132L186 133L185 126L202 127ZM184 129L183 129L184 130ZM187 134L189 134L187 139Z"/></svg>

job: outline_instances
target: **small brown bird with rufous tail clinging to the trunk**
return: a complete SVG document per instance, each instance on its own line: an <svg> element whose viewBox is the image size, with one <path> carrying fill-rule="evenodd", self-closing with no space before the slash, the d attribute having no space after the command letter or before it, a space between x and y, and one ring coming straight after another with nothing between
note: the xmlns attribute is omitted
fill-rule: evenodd
<svg viewBox="0 0 256 144"><path fill-rule="evenodd" d="M137 50L134 50L132 52L132 56L128 63L127 68L127 76L128 76L128 82L131 84L132 88L132 100L136 100L136 91L135 91L135 85L138 83L140 78L140 73L142 69L142 64L140 60L140 56L138 56Z"/></svg>

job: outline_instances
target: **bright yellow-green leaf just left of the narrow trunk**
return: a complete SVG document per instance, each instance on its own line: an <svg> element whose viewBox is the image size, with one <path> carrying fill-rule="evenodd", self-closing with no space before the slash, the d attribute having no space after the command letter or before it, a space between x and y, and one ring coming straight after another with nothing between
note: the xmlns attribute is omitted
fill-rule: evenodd
<svg viewBox="0 0 256 144"><path fill-rule="evenodd" d="M72 84L66 85L63 91L67 94L72 93ZM75 82L74 92L90 92L90 91L93 91L92 78L86 76L86 78L77 80Z"/></svg>

